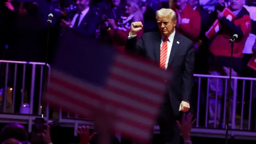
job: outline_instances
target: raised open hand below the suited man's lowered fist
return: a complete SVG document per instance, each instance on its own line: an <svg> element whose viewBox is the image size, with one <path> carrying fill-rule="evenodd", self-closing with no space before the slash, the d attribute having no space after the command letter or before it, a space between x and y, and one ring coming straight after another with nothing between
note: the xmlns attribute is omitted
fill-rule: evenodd
<svg viewBox="0 0 256 144"><path fill-rule="evenodd" d="M196 122L196 119L193 119L193 114L189 113L187 118L186 118L186 114L183 114L182 117L182 123L180 124L180 122L177 120L177 125L178 128L180 129L180 133L182 134L182 137L184 138L185 143L191 143L190 142L190 132L191 132L191 128L193 126L193 124Z"/></svg>

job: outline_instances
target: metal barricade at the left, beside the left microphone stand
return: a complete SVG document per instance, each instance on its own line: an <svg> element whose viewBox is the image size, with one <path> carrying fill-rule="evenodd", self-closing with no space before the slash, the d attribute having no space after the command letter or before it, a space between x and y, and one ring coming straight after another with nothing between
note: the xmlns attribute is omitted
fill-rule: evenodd
<svg viewBox="0 0 256 144"><path fill-rule="evenodd" d="M31 132L34 118L41 114L44 82L48 82L50 76L50 65L46 64L47 78L44 80L44 65L42 62L0 60L0 82L3 90L1 122L28 123L28 131ZM34 102L35 99L38 101ZM48 106L46 109L48 119Z"/></svg>

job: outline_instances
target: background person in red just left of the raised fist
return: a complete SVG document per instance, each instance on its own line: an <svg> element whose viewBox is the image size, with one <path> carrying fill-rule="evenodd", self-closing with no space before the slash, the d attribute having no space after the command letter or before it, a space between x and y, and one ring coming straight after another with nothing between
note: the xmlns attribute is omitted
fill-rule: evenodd
<svg viewBox="0 0 256 144"><path fill-rule="evenodd" d="M136 2L128 2L126 4L126 12L124 16L115 22L113 19L108 19L109 28L107 30L108 37L112 39L113 45L119 51L124 51L126 39L130 32L132 22L143 22L143 12ZM139 39L143 34L143 30L137 35Z"/></svg>

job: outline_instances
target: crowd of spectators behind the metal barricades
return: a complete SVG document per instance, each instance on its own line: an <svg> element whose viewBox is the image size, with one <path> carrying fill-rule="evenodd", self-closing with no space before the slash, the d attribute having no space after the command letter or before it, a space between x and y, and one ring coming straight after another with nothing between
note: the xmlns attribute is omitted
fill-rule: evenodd
<svg viewBox="0 0 256 144"><path fill-rule="evenodd" d="M232 71L232 76L256 76L255 70L247 66L256 54L254 0L7 0L0 6L0 58L45 62L48 28L51 31L48 46L50 50L58 46L58 40L65 34L66 29L72 29L79 34L111 44L122 52L132 22L143 24L143 30L137 34L137 39L146 32L158 31L156 10L160 8L174 10L177 15L176 31L193 41L196 54L195 73L228 76ZM224 11L228 11L228 15ZM54 14L50 25L45 20L45 15L49 12ZM238 38L234 42L234 58L231 63L231 47L228 41L234 34ZM50 51L49 55L51 63L54 52ZM11 73L12 69L10 68ZM220 121L224 86L221 79L212 78L209 82L211 94L208 121L214 123L215 115L217 121ZM19 91L16 93L20 95ZM255 103L256 93L253 94L252 105ZM19 111L19 106L15 111ZM255 116L253 115L254 118ZM255 125L252 126L255 130Z"/></svg>

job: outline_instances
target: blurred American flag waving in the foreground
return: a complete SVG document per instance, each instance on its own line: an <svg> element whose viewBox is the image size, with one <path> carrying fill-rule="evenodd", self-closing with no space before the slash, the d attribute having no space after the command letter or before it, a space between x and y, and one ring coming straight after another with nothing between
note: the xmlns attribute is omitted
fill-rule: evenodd
<svg viewBox="0 0 256 144"><path fill-rule="evenodd" d="M69 57L57 54L46 99L86 118L99 109L108 112L117 132L148 141L166 92L167 71L113 49L85 49L74 57L70 51Z"/></svg>

